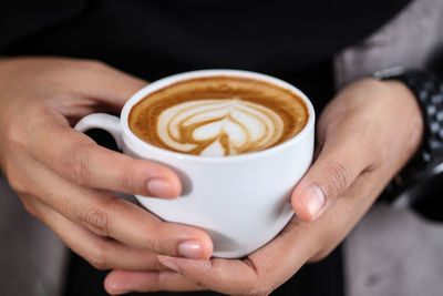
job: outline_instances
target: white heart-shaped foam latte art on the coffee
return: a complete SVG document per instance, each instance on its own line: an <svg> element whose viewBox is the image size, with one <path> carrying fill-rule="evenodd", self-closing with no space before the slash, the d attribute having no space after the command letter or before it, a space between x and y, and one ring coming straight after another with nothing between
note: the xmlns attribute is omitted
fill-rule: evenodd
<svg viewBox="0 0 443 296"><path fill-rule="evenodd" d="M205 156L260 151L277 143L284 120L271 109L238 99L187 101L158 116L162 142L179 152Z"/></svg>

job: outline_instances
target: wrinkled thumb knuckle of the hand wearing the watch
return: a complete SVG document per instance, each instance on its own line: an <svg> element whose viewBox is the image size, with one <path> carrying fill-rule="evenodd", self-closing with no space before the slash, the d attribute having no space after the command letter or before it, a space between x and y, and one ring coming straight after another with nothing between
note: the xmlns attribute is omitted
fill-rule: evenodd
<svg viewBox="0 0 443 296"><path fill-rule="evenodd" d="M337 196L343 192L350 182L350 173L343 164L330 161L324 166L327 175L327 196Z"/></svg>

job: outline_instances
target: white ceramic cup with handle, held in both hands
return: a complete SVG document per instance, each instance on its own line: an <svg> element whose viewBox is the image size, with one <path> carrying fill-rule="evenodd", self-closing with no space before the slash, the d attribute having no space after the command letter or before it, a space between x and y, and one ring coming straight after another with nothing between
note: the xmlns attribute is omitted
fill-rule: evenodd
<svg viewBox="0 0 443 296"><path fill-rule="evenodd" d="M177 153L135 136L127 120L142 99L171 84L207 76L240 76L274 83L300 96L309 120L295 137L267 150L225 157ZM83 118L75 129L110 132L124 154L153 160L175 170L183 193L176 200L136 195L138 202L164 221L205 229L214 243L214 256L243 257L272 239L293 215L290 193L312 161L315 112L297 88L268 75L238 70L203 70L172 75L140 90L124 105L121 118L97 113ZM115 167L119 170L119 167Z"/></svg>

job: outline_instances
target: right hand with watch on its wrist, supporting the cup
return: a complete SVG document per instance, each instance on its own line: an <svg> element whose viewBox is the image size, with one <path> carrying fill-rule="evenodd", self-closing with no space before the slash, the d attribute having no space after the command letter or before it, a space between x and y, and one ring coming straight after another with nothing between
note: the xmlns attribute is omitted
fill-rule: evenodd
<svg viewBox="0 0 443 296"><path fill-rule="evenodd" d="M344 238L418 149L422 125L415 99L400 82L349 85L319 120L316 161L292 193L297 217L272 242L243 259L161 255L168 272L113 271L107 292L269 294Z"/></svg>

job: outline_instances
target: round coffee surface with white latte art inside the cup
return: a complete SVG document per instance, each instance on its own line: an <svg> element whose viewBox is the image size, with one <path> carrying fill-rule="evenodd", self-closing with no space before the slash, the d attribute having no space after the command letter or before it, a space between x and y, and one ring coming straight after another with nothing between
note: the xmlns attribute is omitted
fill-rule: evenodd
<svg viewBox="0 0 443 296"><path fill-rule="evenodd" d="M131 131L158 147L186 154L226 156L261 151L298 134L306 103L269 82L236 76L190 79L135 104Z"/></svg>

